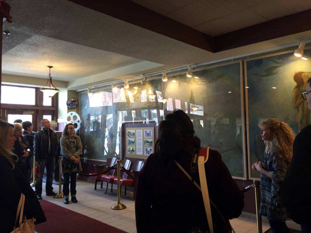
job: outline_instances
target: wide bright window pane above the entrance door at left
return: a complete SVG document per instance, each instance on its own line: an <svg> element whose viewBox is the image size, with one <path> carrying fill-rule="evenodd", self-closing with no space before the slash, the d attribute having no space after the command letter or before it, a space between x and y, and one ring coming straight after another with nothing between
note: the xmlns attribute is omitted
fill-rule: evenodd
<svg viewBox="0 0 311 233"><path fill-rule="evenodd" d="M14 93L27 93L21 95ZM1 103L35 105L35 88L1 86Z"/></svg>

